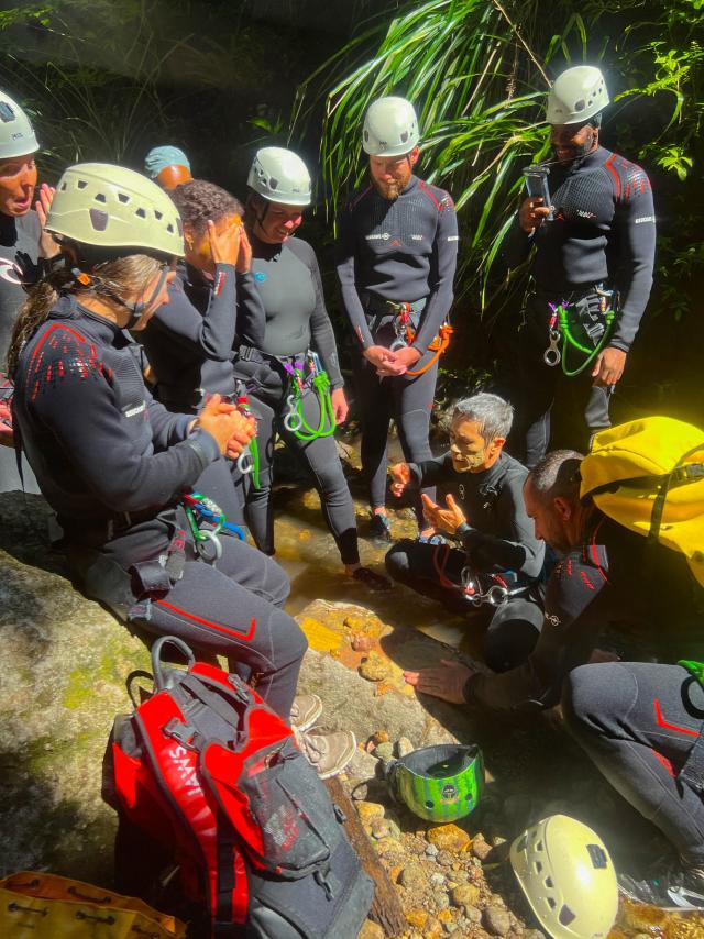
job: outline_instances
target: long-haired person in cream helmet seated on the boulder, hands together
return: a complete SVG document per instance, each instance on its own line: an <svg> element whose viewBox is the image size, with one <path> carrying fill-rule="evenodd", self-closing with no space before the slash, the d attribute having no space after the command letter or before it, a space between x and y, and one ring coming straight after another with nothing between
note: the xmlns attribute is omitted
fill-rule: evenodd
<svg viewBox="0 0 704 939"><path fill-rule="evenodd" d="M168 302L184 255L178 211L139 173L88 163L64 173L46 225L65 264L22 307L9 367L15 426L74 576L121 619L227 655L289 720L307 642L283 609L288 578L244 541L205 534L182 502L221 455L237 459L253 421L219 395L197 417L167 411L125 334ZM197 550L204 539L217 567ZM330 775L349 736L317 739L315 763Z"/></svg>

